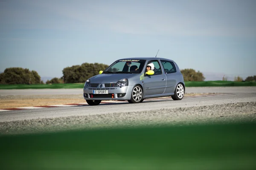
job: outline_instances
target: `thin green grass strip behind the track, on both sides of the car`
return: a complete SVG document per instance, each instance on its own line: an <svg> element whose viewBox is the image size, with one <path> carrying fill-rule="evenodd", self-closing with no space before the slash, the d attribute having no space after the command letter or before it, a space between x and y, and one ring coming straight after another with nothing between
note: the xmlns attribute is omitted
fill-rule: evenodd
<svg viewBox="0 0 256 170"><path fill-rule="evenodd" d="M256 82L202 81L185 82L186 87L224 87L256 86ZM0 89L42 89L42 88L83 88L84 83L38 84L38 85L0 85Z"/></svg>

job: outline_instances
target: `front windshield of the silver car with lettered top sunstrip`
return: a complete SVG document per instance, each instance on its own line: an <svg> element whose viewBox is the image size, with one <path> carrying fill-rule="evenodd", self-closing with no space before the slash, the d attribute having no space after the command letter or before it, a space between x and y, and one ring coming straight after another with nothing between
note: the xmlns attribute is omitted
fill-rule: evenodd
<svg viewBox="0 0 256 170"><path fill-rule="evenodd" d="M141 73L145 65L144 59L121 59L116 60L111 64L103 73L114 73L114 74L132 74Z"/></svg>

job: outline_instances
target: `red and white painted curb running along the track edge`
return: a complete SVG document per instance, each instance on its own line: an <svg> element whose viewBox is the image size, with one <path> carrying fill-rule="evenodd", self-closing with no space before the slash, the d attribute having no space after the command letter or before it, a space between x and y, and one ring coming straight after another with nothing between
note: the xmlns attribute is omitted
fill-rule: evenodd
<svg viewBox="0 0 256 170"><path fill-rule="evenodd" d="M195 98L195 97L207 97L207 96L220 96L226 94L201 94L194 96L184 96L183 98ZM157 100L169 100L172 97L158 97L152 99L144 99L144 101L157 101ZM111 103L126 103L127 101L117 101L117 100L105 100L102 101L101 104L111 104ZM0 111L17 111L17 110L26 110L26 109L42 109L42 108L56 108L56 107L74 107L74 106L83 106L88 105L87 102L84 103L70 103L64 105L45 105L45 106L31 106L31 107L21 107L21 108L6 108L0 109Z"/></svg>

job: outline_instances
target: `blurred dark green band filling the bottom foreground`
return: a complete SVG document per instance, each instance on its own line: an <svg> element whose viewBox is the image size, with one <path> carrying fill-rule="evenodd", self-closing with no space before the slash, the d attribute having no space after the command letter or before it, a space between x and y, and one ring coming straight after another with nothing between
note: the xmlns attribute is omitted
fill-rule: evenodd
<svg viewBox="0 0 256 170"><path fill-rule="evenodd" d="M256 123L0 136L0 169L253 170Z"/></svg>

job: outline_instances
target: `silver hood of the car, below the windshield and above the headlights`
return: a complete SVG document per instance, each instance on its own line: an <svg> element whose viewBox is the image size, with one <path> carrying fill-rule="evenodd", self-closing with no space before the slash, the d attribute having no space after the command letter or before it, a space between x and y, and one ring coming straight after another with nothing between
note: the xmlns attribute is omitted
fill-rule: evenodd
<svg viewBox="0 0 256 170"><path fill-rule="evenodd" d="M90 83L116 83L120 79L127 79L138 74L98 74L90 78Z"/></svg>

